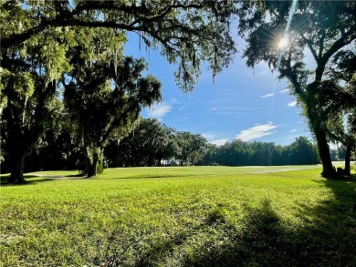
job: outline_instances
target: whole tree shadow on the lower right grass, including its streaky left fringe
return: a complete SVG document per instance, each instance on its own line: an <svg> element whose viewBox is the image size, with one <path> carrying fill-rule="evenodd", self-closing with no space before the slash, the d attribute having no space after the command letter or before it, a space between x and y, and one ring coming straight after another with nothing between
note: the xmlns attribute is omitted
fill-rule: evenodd
<svg viewBox="0 0 356 267"><path fill-rule="evenodd" d="M316 207L299 204L298 226L283 222L269 200L246 207L243 229L213 210L186 232L162 240L146 236L145 247L132 246L110 266L356 266L356 182L316 182L332 190L333 198ZM196 242L201 233L205 239Z"/></svg>

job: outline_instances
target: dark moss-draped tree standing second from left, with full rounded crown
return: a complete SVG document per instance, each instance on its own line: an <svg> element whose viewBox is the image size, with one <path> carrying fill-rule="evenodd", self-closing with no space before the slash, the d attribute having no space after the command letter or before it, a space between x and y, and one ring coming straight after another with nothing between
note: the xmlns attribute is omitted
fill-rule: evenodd
<svg viewBox="0 0 356 267"><path fill-rule="evenodd" d="M147 68L143 59L122 57L120 50L110 59L108 46L120 46L111 29L86 29L89 32L89 41L70 49L73 68L64 101L82 140L85 174L92 177L112 135L120 138L139 118L141 108L161 100L161 83L141 76Z"/></svg>

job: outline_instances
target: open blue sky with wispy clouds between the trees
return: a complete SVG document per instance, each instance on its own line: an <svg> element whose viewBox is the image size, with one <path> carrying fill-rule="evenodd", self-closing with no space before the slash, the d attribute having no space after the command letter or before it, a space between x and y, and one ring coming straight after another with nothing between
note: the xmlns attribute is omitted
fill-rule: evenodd
<svg viewBox="0 0 356 267"><path fill-rule="evenodd" d="M237 36L237 35L235 35ZM307 121L300 115L296 99L288 94L287 83L279 81L267 64L246 67L241 58L244 43L236 37L234 63L215 77L202 67L194 91L183 93L174 81L174 66L159 50L139 46L139 38L129 35L125 56L144 57L149 71L162 82L162 103L145 108L143 118L158 118L180 131L201 133L211 143L227 140L276 142L288 145L298 136L310 138Z"/></svg>

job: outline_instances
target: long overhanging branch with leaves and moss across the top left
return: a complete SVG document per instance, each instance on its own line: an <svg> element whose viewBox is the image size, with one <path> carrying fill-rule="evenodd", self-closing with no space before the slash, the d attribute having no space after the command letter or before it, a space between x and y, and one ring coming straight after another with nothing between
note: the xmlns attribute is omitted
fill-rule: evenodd
<svg viewBox="0 0 356 267"><path fill-rule="evenodd" d="M193 88L202 60L215 76L236 52L229 35L234 1L2 1L1 10L2 52L31 46L47 33L68 38L73 26L133 32L178 66L177 82L185 90ZM48 53L55 52L51 48Z"/></svg>

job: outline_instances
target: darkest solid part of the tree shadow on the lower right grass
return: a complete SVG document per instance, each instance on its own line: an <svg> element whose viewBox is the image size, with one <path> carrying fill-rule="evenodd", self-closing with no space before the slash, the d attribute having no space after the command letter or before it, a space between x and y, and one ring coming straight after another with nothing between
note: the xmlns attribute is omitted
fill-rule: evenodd
<svg viewBox="0 0 356 267"><path fill-rule="evenodd" d="M288 229L265 200L250 209L245 231L225 225L225 248L185 266L356 266L356 182L319 181L334 198L316 208L299 205L301 227ZM227 228L226 228L227 227ZM204 255L204 254L203 254Z"/></svg>

